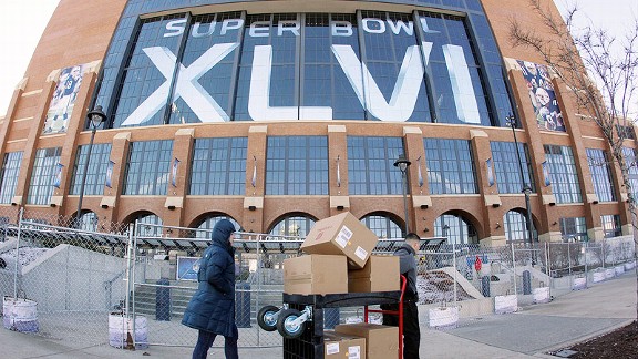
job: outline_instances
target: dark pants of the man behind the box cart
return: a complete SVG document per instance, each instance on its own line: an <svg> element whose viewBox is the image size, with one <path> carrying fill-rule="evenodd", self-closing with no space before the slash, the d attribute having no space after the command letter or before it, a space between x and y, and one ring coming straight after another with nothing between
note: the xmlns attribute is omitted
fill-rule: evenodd
<svg viewBox="0 0 638 359"><path fill-rule="evenodd" d="M381 309L399 310L399 305L383 305ZM399 326L399 316L383 315L384 326ZM403 302L403 358L419 359L421 329L419 328L419 308L415 301Z"/></svg>

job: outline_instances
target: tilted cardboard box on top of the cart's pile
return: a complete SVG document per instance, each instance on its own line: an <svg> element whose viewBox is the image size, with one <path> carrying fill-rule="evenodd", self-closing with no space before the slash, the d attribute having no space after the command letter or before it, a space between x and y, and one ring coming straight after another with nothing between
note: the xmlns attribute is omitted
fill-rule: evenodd
<svg viewBox="0 0 638 359"><path fill-rule="evenodd" d="M301 249L310 254L344 255L348 266L363 268L379 238L351 213L321 219L306 236Z"/></svg>

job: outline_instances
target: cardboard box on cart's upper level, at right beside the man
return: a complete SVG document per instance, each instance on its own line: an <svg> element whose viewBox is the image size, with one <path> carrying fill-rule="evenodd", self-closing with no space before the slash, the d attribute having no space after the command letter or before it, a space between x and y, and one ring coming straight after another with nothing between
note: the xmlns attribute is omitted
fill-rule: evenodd
<svg viewBox="0 0 638 359"><path fill-rule="evenodd" d="M348 270L349 293L401 290L398 256L373 255L362 269Z"/></svg>

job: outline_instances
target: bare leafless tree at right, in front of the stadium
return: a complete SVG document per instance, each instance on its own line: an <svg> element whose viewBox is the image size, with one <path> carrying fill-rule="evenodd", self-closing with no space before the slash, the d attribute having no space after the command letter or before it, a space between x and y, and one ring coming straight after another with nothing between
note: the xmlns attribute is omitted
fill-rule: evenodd
<svg viewBox="0 0 638 359"><path fill-rule="evenodd" d="M583 120L594 121L603 132L627 189L636 260L638 188L632 188L629 170L638 163L636 156L626 156L622 148L625 140L635 137L632 124L636 119L630 120L635 115L630 111L638 104L638 20L634 20L624 39L617 39L605 29L577 28L575 20L580 13L576 7L563 20L547 1L529 0L529 6L544 27L525 28L517 19L511 19L510 41L514 47L529 48L541 54L558 82L567 88ZM635 270L638 291L638 267ZM638 326L638 321L636 324Z"/></svg>

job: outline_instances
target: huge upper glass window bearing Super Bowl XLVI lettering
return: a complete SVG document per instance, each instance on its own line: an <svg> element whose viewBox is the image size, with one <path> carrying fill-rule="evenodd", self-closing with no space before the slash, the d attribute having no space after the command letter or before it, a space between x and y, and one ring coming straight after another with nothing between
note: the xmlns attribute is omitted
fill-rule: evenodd
<svg viewBox="0 0 638 359"><path fill-rule="evenodd" d="M362 10L148 19L166 10L131 3L96 103L113 103L106 125L114 127L331 119L492 125L512 105L476 3L465 17Z"/></svg>

